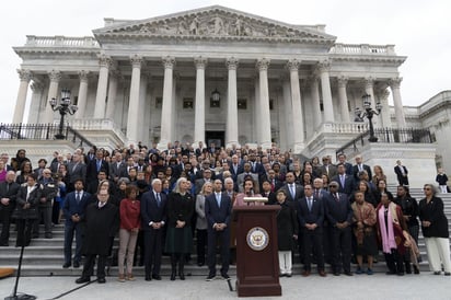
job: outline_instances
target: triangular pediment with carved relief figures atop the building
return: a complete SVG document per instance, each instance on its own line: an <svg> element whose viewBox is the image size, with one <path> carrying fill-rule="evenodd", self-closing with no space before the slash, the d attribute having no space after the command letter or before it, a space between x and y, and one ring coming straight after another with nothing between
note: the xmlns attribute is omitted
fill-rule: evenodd
<svg viewBox="0 0 451 300"><path fill-rule="evenodd" d="M113 21L94 31L96 36L172 36L201 39L269 39L334 43L319 26L291 25L213 5L140 21Z"/></svg>

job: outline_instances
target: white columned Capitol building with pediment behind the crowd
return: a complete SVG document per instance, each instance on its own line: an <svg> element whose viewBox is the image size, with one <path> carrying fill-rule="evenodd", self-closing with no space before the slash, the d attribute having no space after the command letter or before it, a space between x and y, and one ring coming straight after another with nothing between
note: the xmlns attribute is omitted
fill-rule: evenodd
<svg viewBox="0 0 451 300"><path fill-rule="evenodd" d="M358 152L386 168L401 159L410 170L431 169L431 180L436 166L451 172L451 91L404 106L398 68L406 56L394 45L336 43L325 25L287 24L220 5L105 19L92 32L28 35L14 47L22 59L14 124L25 118L28 86L27 124L58 124L49 100L68 89L78 107L68 125L109 149L138 141L160 148L175 140L277 143L308 158ZM363 142L370 122L361 114L362 95L370 96L369 109L381 108L372 117L375 143Z"/></svg>

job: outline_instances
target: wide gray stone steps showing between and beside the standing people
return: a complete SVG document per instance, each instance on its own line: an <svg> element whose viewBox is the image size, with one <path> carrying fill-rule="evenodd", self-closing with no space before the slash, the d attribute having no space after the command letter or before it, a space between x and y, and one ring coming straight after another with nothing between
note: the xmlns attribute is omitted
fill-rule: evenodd
<svg viewBox="0 0 451 300"><path fill-rule="evenodd" d="M394 192L395 188L389 187L389 191ZM413 188L410 191L412 196L417 200L423 198L423 191L419 188ZM395 194L395 193L393 193ZM449 220L451 220L451 194L440 194L439 197L443 199L444 211ZM451 231L451 221L450 221L450 231ZM44 230L41 229L43 234ZM30 246L24 251L23 262L22 262L22 275L23 276L80 276L80 268L62 268L63 264L63 224L55 226L53 229L54 238L53 239L34 239ZM18 267L20 247L14 247L15 243L15 231L14 226L11 229L10 246L0 247L0 267ZM74 244L74 242L73 242ZM118 246L118 239L116 238L114 249ZM418 243L423 262L420 263L420 270L428 272L429 266L426 255L426 245L420 232L419 243ZM374 272L384 273L386 272L385 263L383 262L383 255L380 253L379 263L374 264ZM301 273L302 265L299 263L298 254L296 253L293 272L294 274ZM352 269L355 265L352 266ZM134 273L137 276L143 276L143 267L137 266L134 268ZM163 256L162 262L162 276L169 276L171 272L170 258ZM112 276L117 275L117 267L112 266L109 269ZM208 268L207 266L198 267L196 264L196 254L195 246L193 246L192 261L185 266L185 274L193 276L207 276ZM234 265L230 267L230 275L235 275L236 268Z"/></svg>

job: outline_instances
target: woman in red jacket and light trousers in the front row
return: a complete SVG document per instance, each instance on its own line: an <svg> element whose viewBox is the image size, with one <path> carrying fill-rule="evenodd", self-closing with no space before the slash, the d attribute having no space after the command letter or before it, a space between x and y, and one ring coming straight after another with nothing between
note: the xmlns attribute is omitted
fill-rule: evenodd
<svg viewBox="0 0 451 300"><path fill-rule="evenodd" d="M138 239L138 232L141 227L141 205L137 199L138 187L136 185L129 185L125 189L126 198L120 201L120 229L119 229L119 255L118 255L118 268L120 282L127 280L135 280L131 273L134 266L134 256L136 242ZM124 259L127 255L127 277L125 276Z"/></svg>

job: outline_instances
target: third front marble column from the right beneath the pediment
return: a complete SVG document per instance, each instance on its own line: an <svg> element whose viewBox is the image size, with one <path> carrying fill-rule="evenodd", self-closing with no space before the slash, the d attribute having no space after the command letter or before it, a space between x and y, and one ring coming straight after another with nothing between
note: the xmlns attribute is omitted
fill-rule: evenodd
<svg viewBox="0 0 451 300"><path fill-rule="evenodd" d="M258 78L259 78L259 128L261 141L263 149L271 148L271 131L270 131L270 112L269 112L269 86L268 86L268 68L269 59L262 58L257 60Z"/></svg>

